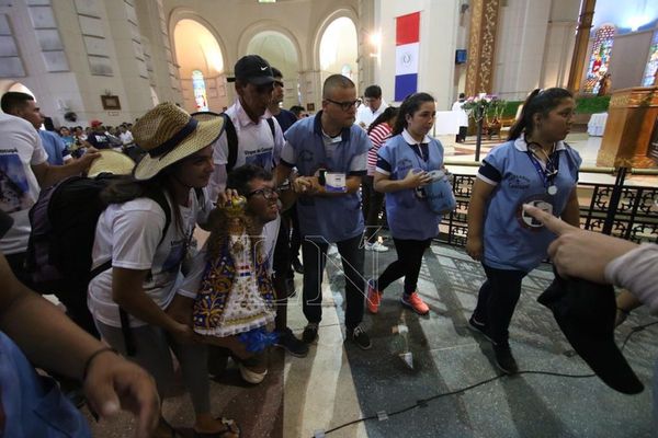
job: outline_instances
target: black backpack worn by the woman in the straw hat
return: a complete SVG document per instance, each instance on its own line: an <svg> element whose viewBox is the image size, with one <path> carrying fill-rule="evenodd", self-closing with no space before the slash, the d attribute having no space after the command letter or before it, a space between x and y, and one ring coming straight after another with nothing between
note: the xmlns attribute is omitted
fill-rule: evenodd
<svg viewBox="0 0 658 438"><path fill-rule="evenodd" d="M112 265L110 261L103 264L104 269L100 266L92 272L91 251L99 217L106 207L100 194L120 177L107 173L93 178L70 176L41 192L30 209L32 231L26 256L26 267L38 292L57 295L73 285L86 287ZM164 193L154 191L146 196L164 211L162 235L167 234L171 209Z"/></svg>

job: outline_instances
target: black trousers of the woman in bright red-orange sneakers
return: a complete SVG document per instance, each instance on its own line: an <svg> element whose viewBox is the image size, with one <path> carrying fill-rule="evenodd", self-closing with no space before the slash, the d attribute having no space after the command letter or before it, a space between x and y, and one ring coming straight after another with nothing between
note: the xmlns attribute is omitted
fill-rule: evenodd
<svg viewBox="0 0 658 438"><path fill-rule="evenodd" d="M382 273L377 279L376 289L382 291L398 278L405 277L405 295L411 295L418 286L418 275L424 251L430 247L428 240L402 240L393 238L398 258Z"/></svg>

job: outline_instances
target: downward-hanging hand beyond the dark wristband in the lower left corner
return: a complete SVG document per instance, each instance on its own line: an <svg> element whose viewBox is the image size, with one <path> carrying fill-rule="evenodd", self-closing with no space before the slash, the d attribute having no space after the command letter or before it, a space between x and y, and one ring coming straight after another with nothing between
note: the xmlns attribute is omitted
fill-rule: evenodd
<svg viewBox="0 0 658 438"><path fill-rule="evenodd" d="M148 438L158 425L160 397L154 379L139 366L111 353L93 359L84 379L84 395L103 418L120 408L136 417L135 438Z"/></svg>

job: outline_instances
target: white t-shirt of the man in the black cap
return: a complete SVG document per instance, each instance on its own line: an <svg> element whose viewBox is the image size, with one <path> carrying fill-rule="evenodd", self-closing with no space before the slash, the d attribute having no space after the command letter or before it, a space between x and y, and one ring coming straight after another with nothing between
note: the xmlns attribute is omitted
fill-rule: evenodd
<svg viewBox="0 0 658 438"><path fill-rule="evenodd" d="M266 111L258 124L253 123L242 108L242 105L240 105L239 100L226 110L226 114L230 117L238 136L238 153L234 169L243 164L256 164L271 172L274 165L279 163L281 149L284 143L283 131L279 122L272 117L270 111ZM272 137L272 130L266 120L270 117L274 122L274 137ZM213 158L215 164L226 165L228 163L226 130L213 145ZM213 173L211 184L208 185L208 196L211 196L211 199L217 199L219 187L226 185L225 177L226 175L223 172L215 171Z"/></svg>

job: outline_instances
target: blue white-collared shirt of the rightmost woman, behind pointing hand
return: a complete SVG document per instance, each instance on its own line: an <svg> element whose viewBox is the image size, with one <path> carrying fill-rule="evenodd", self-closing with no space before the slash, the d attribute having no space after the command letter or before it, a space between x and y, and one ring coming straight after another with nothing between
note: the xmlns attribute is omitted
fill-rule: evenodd
<svg viewBox="0 0 658 438"><path fill-rule="evenodd" d="M582 160L577 151L559 141L551 160L558 172L548 183L535 168L523 138L491 150L477 177L495 185L487 201L484 222L484 260L498 269L530 272L546 258L555 234L523 214L523 204L552 209L559 217L578 182ZM555 195L547 187L557 188Z"/></svg>

